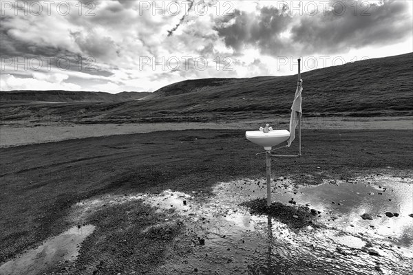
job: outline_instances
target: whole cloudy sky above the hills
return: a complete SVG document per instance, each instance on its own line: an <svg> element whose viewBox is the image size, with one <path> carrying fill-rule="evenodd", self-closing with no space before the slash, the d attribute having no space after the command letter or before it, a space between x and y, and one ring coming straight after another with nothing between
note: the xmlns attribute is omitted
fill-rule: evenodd
<svg viewBox="0 0 413 275"><path fill-rule="evenodd" d="M155 91L413 52L412 1L0 3L4 91Z"/></svg>

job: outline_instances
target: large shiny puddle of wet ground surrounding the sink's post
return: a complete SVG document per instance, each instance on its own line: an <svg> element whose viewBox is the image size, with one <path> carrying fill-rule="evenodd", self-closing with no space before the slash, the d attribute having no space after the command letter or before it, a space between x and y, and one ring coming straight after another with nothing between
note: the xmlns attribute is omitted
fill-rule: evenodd
<svg viewBox="0 0 413 275"><path fill-rule="evenodd" d="M196 194L165 190L159 195L107 195L76 207L87 214L142 199L158 211L184 217L189 233L199 238L193 240L193 252L167 261L154 274L410 274L412 179L376 175L300 187L279 178L272 192L273 201L320 211L318 221L326 228L291 230L240 206L266 197L265 179L220 183L206 201ZM385 212L399 217L386 217ZM361 219L364 213L372 220Z"/></svg>

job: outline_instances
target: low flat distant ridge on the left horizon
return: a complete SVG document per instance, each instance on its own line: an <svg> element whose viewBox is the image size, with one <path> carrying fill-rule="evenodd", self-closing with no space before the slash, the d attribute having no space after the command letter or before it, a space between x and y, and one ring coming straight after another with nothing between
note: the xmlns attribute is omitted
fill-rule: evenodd
<svg viewBox="0 0 413 275"><path fill-rule="evenodd" d="M139 100L147 96L148 92L123 91L118 94L109 94L103 91L0 91L0 101L24 102L120 102Z"/></svg>

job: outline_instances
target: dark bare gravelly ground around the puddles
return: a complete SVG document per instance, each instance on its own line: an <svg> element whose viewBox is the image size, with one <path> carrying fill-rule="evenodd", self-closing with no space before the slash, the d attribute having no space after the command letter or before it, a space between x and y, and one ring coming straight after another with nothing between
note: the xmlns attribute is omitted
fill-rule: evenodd
<svg viewBox="0 0 413 275"><path fill-rule="evenodd" d="M302 157L275 159L273 175L301 185L372 174L412 178L411 137L412 131L403 130L304 130ZM295 152L296 146L279 153ZM0 264L90 224L95 229L77 260L48 265L44 272L147 274L181 263L200 239L175 212L136 200L76 215L76 203L167 189L202 203L219 182L262 179L264 157L255 155L260 151L238 130L161 131L0 148ZM165 223L169 219L173 222ZM190 264L193 273L226 274Z"/></svg>

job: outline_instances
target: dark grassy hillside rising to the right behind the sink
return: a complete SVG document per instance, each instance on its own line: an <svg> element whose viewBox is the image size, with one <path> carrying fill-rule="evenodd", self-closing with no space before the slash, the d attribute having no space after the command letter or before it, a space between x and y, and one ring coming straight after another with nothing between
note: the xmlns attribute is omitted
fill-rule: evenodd
<svg viewBox="0 0 413 275"><path fill-rule="evenodd" d="M301 74L304 115L412 115L413 54L375 58ZM144 100L1 105L1 120L167 122L288 115L297 75L186 80Z"/></svg>

